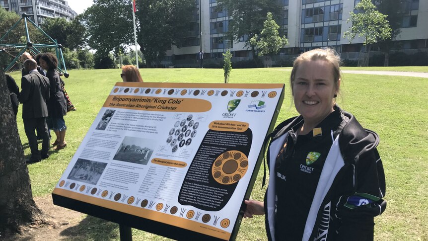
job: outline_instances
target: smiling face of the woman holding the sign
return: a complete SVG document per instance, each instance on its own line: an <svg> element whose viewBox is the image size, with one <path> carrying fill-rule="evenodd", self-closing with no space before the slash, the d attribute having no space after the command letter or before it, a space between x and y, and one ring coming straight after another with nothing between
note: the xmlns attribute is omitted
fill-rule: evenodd
<svg viewBox="0 0 428 241"><path fill-rule="evenodd" d="M333 66L323 60L303 61L293 81L294 105L306 124L317 125L333 112L335 84Z"/></svg>

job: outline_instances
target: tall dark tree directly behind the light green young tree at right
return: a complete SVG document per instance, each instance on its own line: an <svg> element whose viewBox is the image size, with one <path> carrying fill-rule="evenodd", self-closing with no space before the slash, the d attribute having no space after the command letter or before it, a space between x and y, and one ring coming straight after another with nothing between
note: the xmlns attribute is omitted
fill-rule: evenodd
<svg viewBox="0 0 428 241"><path fill-rule="evenodd" d="M395 38L401 33L401 24L403 22L404 12L402 11L402 0L375 0L374 4L379 12L387 15L386 20L391 27L391 38L379 40L378 46L385 55L384 66L389 66L389 52L393 47ZM412 3L406 1L407 4Z"/></svg>

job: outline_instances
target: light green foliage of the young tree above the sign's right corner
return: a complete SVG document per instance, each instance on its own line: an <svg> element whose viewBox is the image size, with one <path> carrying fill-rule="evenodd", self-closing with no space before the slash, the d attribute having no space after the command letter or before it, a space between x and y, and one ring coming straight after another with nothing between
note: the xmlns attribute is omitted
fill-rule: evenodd
<svg viewBox="0 0 428 241"><path fill-rule="evenodd" d="M259 56L275 55L281 48L288 45L287 38L285 36L280 37L278 33L279 28L280 26L273 19L272 13L268 12L260 36L254 35L254 37L250 39L250 44L252 46L257 46Z"/></svg>

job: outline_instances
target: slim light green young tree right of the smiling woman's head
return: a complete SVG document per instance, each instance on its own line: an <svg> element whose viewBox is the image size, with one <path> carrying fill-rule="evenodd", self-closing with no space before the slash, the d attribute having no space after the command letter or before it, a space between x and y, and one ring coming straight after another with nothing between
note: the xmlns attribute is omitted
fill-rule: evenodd
<svg viewBox="0 0 428 241"><path fill-rule="evenodd" d="M380 13L371 0L361 0L354 9L357 13L350 12L347 22L352 21L352 26L344 33L344 37L348 38L350 43L357 35L363 39L366 54L361 66L368 66L370 45L391 38L391 27L386 19L387 15Z"/></svg>

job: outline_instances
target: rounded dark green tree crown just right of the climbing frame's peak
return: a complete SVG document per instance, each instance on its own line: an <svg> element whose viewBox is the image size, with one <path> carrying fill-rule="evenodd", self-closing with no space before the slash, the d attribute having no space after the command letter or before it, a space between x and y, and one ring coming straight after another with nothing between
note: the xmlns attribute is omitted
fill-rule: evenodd
<svg viewBox="0 0 428 241"><path fill-rule="evenodd" d="M80 16L77 16L70 22L63 17L46 18L42 29L64 47L79 49L87 41L87 32L81 21Z"/></svg>

